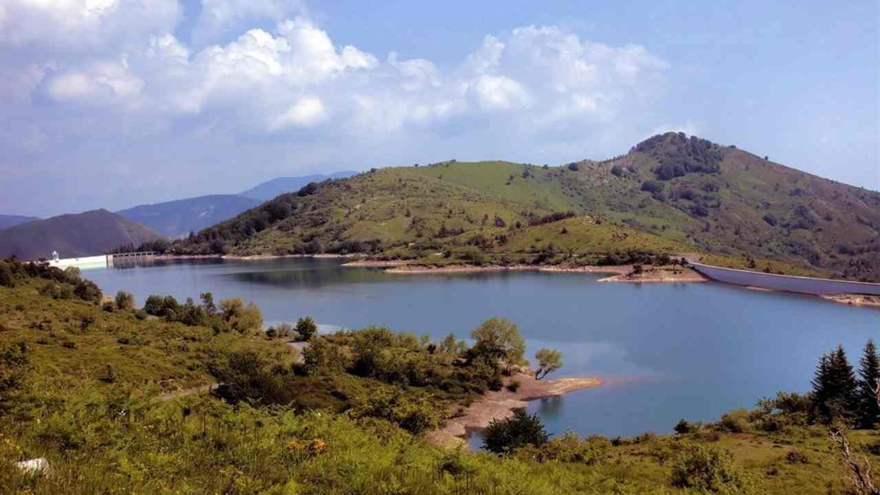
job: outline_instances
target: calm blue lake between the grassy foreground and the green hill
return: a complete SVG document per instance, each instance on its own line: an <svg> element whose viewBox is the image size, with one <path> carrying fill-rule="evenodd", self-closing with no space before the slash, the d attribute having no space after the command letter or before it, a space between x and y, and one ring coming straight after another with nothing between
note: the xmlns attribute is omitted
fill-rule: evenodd
<svg viewBox="0 0 880 495"><path fill-rule="evenodd" d="M466 338L488 317L519 326L528 355L562 353L550 375L605 385L539 400L551 433L669 433L678 419L714 420L777 390L806 391L821 353L842 344L857 363L880 340L880 310L725 284L597 283L585 273L390 274L333 258L194 260L89 270L108 294L178 299L213 292L256 302L267 322L312 316L324 328L385 325ZM476 440L473 440L476 441Z"/></svg>

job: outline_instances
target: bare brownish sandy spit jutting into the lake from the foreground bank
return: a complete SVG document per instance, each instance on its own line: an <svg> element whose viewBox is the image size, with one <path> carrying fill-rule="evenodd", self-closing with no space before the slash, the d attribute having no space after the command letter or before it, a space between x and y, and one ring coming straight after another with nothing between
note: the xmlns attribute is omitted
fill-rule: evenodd
<svg viewBox="0 0 880 495"><path fill-rule="evenodd" d="M487 392L481 400L471 404L463 415L447 419L443 428L428 433L428 439L436 445L459 445L464 442L468 430L485 428L495 418L508 418L513 415L513 411L527 406L530 400L561 396L574 390L598 387L603 383L601 378L595 376L535 380L532 375L517 374L505 380L505 385L512 380L519 382L516 392L508 389Z"/></svg>

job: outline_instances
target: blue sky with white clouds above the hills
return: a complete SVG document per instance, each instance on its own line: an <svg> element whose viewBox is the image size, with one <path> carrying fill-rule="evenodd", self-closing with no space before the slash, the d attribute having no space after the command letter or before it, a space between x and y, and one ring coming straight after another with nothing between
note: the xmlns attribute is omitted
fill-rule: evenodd
<svg viewBox="0 0 880 495"><path fill-rule="evenodd" d="M0 2L0 214L675 130L880 190L880 3Z"/></svg>

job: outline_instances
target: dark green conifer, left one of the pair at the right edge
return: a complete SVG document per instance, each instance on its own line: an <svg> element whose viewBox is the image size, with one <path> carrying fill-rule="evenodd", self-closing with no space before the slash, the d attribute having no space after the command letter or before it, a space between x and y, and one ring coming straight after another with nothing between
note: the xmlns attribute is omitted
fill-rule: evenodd
<svg viewBox="0 0 880 495"><path fill-rule="evenodd" d="M824 421L852 420L858 409L857 382L843 346L819 358L813 385L813 415Z"/></svg>

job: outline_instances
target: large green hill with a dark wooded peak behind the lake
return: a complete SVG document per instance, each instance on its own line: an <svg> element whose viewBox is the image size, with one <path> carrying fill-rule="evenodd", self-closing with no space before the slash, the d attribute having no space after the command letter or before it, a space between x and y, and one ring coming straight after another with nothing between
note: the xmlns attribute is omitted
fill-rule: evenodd
<svg viewBox="0 0 880 495"><path fill-rule="evenodd" d="M557 264L693 252L729 266L880 280L880 193L667 133L601 162L452 160L329 180L174 249Z"/></svg>

